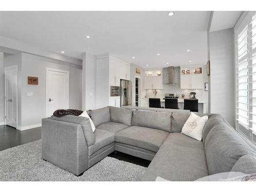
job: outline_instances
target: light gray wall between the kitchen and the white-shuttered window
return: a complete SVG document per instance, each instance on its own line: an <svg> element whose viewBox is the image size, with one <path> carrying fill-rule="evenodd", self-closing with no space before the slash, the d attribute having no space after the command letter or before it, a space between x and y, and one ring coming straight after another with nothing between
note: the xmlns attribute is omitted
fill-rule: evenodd
<svg viewBox="0 0 256 192"><path fill-rule="evenodd" d="M220 113L234 126L234 33L210 33L210 113Z"/></svg>

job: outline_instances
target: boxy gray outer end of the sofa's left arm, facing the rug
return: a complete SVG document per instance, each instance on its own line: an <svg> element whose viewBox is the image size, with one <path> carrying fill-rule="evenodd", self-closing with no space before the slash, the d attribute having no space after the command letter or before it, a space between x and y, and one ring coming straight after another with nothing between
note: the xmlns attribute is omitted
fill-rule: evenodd
<svg viewBox="0 0 256 192"><path fill-rule="evenodd" d="M88 146L80 124L42 119L42 159L80 175L88 169Z"/></svg>

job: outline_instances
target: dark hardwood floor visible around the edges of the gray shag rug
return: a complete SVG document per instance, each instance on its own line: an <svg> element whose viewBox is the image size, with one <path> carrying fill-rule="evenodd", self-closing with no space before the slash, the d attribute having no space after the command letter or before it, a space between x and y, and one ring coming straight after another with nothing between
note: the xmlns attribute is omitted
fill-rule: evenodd
<svg viewBox="0 0 256 192"><path fill-rule="evenodd" d="M8 125L0 125L0 151L39 139L41 139L41 127L36 127L34 129L25 131L19 131ZM121 152L113 152L109 155L109 157L113 157L118 160L134 163L144 167L147 167L151 162Z"/></svg>

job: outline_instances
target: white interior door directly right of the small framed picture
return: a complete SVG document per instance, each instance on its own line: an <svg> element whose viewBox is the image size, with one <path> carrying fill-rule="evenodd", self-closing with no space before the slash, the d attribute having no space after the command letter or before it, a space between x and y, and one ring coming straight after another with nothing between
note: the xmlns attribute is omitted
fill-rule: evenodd
<svg viewBox="0 0 256 192"><path fill-rule="evenodd" d="M47 117L55 110L69 109L69 71L46 69Z"/></svg>

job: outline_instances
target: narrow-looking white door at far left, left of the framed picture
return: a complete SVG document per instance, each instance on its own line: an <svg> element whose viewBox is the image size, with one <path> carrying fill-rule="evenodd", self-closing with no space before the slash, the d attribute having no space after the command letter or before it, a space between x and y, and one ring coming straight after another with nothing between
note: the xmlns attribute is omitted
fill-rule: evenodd
<svg viewBox="0 0 256 192"><path fill-rule="evenodd" d="M17 66L5 68L5 124L17 128Z"/></svg>

